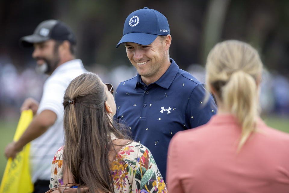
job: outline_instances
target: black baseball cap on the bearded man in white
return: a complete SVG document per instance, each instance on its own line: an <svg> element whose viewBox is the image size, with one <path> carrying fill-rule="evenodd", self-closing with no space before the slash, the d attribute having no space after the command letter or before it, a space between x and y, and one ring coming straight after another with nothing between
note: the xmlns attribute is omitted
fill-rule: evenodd
<svg viewBox="0 0 289 193"><path fill-rule="evenodd" d="M42 21L29 36L20 38L23 47L33 46L33 43L40 43L47 40L68 40L72 45L76 44L76 37L70 27L59 20Z"/></svg>

